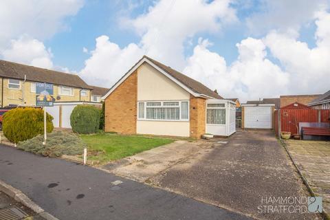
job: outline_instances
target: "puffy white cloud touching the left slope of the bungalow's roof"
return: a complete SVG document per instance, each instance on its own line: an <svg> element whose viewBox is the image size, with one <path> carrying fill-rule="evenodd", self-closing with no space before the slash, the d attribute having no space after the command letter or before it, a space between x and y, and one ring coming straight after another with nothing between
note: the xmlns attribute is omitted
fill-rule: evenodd
<svg viewBox="0 0 330 220"><path fill-rule="evenodd" d="M80 71L89 84L111 87L143 55L140 47L131 43L124 48L109 41L108 36L96 39L96 48Z"/></svg>

